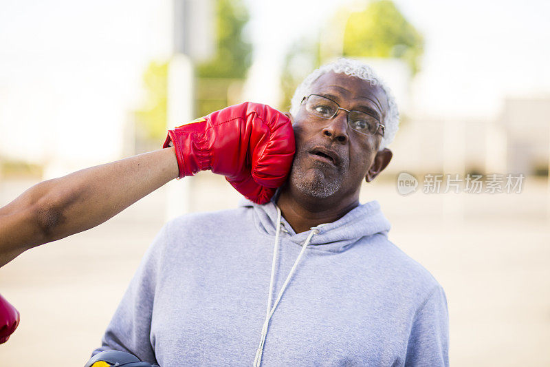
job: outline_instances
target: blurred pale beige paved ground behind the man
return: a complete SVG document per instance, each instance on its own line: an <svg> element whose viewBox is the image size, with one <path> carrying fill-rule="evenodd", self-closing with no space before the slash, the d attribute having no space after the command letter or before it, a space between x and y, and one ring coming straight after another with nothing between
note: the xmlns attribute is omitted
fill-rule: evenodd
<svg viewBox="0 0 550 367"><path fill-rule="evenodd" d="M234 206L223 178L194 178L193 210ZM0 205L33 182L0 181ZM215 194L213 194L215 193ZM0 292L21 325L0 366L83 366L100 344L133 271L164 221L162 189L95 229L47 244L0 269ZM448 297L452 366L550 366L550 220L545 182L521 194L399 196L364 190L392 222L390 239Z"/></svg>

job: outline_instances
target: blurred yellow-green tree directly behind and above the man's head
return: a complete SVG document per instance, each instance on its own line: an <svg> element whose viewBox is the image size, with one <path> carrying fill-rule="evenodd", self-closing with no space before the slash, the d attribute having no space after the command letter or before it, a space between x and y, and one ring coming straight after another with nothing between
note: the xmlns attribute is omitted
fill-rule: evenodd
<svg viewBox="0 0 550 367"><path fill-rule="evenodd" d="M281 75L281 105L289 106L298 83L315 67L340 56L403 59L414 75L423 45L421 34L391 0L368 1L358 12L340 8L320 29L318 38L300 40L289 49Z"/></svg>

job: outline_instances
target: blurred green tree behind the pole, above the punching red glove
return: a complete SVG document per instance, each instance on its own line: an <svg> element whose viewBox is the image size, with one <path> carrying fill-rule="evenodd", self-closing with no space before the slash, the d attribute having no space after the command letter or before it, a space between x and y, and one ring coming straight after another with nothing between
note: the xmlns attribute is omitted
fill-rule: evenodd
<svg viewBox="0 0 550 367"><path fill-rule="evenodd" d="M238 94L250 67L252 45L243 28L250 18L241 0L216 0L216 52L196 65L196 116L228 105L228 95ZM145 101L134 113L138 140L158 142L166 136L168 61L152 61L143 75ZM239 96L234 96L239 98Z"/></svg>

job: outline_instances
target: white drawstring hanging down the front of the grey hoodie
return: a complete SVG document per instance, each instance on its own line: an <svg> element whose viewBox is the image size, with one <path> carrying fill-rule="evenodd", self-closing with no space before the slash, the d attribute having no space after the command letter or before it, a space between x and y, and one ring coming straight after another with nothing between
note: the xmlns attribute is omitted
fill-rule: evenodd
<svg viewBox="0 0 550 367"><path fill-rule="evenodd" d="M274 277L275 277L275 262L277 259L277 249L278 249L278 242L279 242L279 233L281 232L281 209L277 207L277 229L275 231L275 244L273 249L273 260L272 260L272 266L271 266L271 280L270 280L270 294L267 297L267 313L265 314L265 322L263 323L262 327L262 337L260 340L260 346L258 347L258 350L256 350L256 357L254 358L254 367L260 367L261 359L262 359L262 353L263 353L263 344L265 343L265 337L267 335L267 328L270 324L270 319L275 312L275 308L277 307L279 301L281 300L281 297L283 297L283 292L287 288L288 283L290 282L290 278L294 274L294 271L296 270L296 266L298 266L298 262L300 262L300 258L302 258L302 255L304 254L305 248L309 244L309 241L311 241L311 238L314 236L314 234L318 233L317 228L312 228L311 232L307 236L307 239L304 242L304 245L302 247L302 251L300 251L300 255L298 255L298 258L294 262L294 265L292 266L292 269L290 270L289 275L287 276L287 280L285 280L285 283L283 284L283 287L281 288L281 291L279 292L279 295L277 297L277 300L275 301L275 304L273 305L273 308L271 308L271 301L272 301L272 293L273 293L273 283L274 283Z"/></svg>

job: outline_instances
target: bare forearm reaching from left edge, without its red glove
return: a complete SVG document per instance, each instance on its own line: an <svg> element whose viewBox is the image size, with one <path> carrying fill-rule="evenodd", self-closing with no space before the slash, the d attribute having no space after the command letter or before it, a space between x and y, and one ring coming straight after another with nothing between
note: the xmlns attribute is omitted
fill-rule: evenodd
<svg viewBox="0 0 550 367"><path fill-rule="evenodd" d="M0 208L0 266L105 222L178 176L173 147L34 185Z"/></svg>

